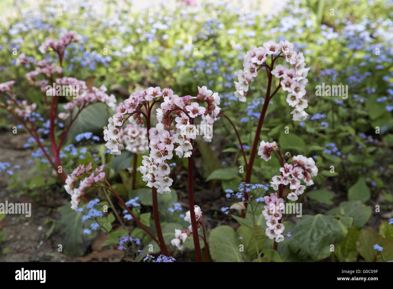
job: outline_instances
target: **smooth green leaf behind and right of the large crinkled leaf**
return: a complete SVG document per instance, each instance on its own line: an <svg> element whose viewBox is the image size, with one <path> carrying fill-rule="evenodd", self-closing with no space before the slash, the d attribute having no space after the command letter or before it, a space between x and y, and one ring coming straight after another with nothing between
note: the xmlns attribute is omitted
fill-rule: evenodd
<svg viewBox="0 0 393 289"><path fill-rule="evenodd" d="M361 201L342 202L336 208L326 212L327 215L344 215L353 218L357 228L361 228L370 219L372 211L370 206L365 206Z"/></svg>

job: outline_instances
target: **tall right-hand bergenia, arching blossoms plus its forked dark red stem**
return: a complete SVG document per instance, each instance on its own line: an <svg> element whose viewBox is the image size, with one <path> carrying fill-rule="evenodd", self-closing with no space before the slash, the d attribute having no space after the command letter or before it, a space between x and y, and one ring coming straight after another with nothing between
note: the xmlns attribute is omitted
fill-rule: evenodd
<svg viewBox="0 0 393 289"><path fill-rule="evenodd" d="M282 64L276 64L279 59L285 59L288 66ZM280 41L279 43L269 40L263 43L263 46L253 47L244 56L243 70L239 70L237 77L238 81L235 81L235 96L239 101L246 102L247 94L249 92L249 84L255 80L258 75L258 71L262 68L266 71L267 76L267 88L266 96L264 98L264 103L261 111L261 116L259 117L257 130L255 133L253 146L251 149L250 159L247 162L244 153L243 145L240 140L240 136L237 133L235 126L232 121L236 134L238 136L242 154L244 156L244 162L246 164L246 183L249 184L252 175L252 166L254 162L255 155L257 153L257 146L259 143L259 136L261 134L261 128L263 120L266 114L266 109L269 105L270 100L273 96L282 88L284 91L288 92L286 101L294 110L291 112L292 120L302 121L307 118L307 113L305 108L307 108L307 99L303 96L306 94L305 87L307 85L307 74L310 68L306 68L304 61L304 56L302 52L296 52L294 50L294 45L288 40ZM272 85L274 79L278 79L277 87L272 92ZM222 116L228 118L226 115ZM229 118L228 118L229 120ZM266 155L267 157L269 155ZM245 216L245 211L247 208L248 194L244 191L244 210L242 210L241 217Z"/></svg>

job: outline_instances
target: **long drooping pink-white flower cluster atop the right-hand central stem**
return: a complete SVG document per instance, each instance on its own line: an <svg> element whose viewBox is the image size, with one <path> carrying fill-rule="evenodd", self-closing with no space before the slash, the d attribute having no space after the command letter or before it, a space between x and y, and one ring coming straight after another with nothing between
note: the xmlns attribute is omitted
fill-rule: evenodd
<svg viewBox="0 0 393 289"><path fill-rule="evenodd" d="M217 118L220 112L220 97L218 93L208 90L207 87L198 87L198 95L179 97L173 91L164 88L162 92L154 88L147 91L151 98L162 95L161 107L157 109L158 124L149 130L150 155L143 156L140 171L142 179L147 186L157 189L158 193L170 193L173 180L169 177L170 167L167 160L173 158L173 151L179 158L189 157L192 154L192 140L196 138L198 130L194 125L194 119L203 115L209 121ZM192 102L192 99L196 99ZM206 101L207 106L200 106ZM205 119L205 120L206 120ZM109 132L108 132L109 136Z"/></svg>

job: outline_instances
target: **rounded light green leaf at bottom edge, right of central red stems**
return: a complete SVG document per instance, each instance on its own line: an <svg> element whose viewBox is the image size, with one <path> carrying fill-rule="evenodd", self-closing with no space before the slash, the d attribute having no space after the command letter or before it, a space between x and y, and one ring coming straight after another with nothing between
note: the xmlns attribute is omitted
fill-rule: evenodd
<svg viewBox="0 0 393 289"><path fill-rule="evenodd" d="M245 252L240 252L237 234L230 226L219 226L210 232L209 252L216 262L244 262Z"/></svg>

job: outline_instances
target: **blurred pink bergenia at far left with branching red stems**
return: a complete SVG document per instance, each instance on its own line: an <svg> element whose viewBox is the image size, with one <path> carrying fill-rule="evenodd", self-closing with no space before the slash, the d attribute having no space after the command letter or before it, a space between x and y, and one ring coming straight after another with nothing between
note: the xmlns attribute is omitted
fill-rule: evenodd
<svg viewBox="0 0 393 289"><path fill-rule="evenodd" d="M0 83L0 95L4 97L4 101L0 101L0 107L7 110L22 123L63 182L66 180L66 175L62 168L60 150L73 122L84 108L93 103L102 102L112 109L116 107L115 96L113 94L109 96L104 85L100 88L88 88L85 81L62 75L64 51L70 43L81 42L81 40L81 36L77 35L76 32L69 31L59 39L48 39L41 44L40 52L43 54L55 52L59 63L47 60L50 59L48 57L50 55L44 55L45 59L40 61L36 61L33 57L27 57L25 53L21 53L17 58L17 64L35 68L26 74L26 78L29 83L37 86L42 93L48 112L47 121L40 114L34 112L37 108L36 103L28 104L26 100L20 101L17 99L16 94L13 93L15 81ZM68 100L63 107L68 112L58 112L61 97ZM39 128L39 121L44 123L44 127L48 129ZM67 124L64 125L63 121ZM58 133L60 133L60 137ZM50 139L52 156L48 154L47 148L42 144L46 137Z"/></svg>

